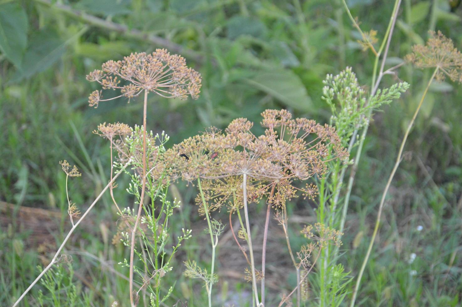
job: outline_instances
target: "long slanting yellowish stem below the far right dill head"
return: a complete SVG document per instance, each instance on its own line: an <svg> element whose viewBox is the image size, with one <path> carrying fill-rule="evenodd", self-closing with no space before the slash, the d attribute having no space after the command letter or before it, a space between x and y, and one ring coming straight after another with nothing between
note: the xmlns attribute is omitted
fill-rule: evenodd
<svg viewBox="0 0 462 307"><path fill-rule="evenodd" d="M391 185L391 181L395 177L396 170L398 169L398 166L401 163L401 158L402 158L402 153L403 153L403 150L404 150L404 145L406 144L407 137L409 136L409 132L411 132L411 128L412 128L413 123L414 123L414 121L415 121L415 119L417 117L417 114L419 114L420 107L422 106L422 103L424 102L425 96L426 96L426 94L428 92L428 89L430 88L430 84L432 84L432 81L435 78L435 75L437 74L437 72L438 72L438 67L435 68L435 71L433 72L432 77L428 81L428 84L427 84L427 86L426 86L426 88L424 90L422 98L420 99L419 105L417 106L417 108L416 108L416 110L414 112L412 120L409 122L409 125L407 125L406 132L404 133L404 137L403 137L403 139L401 141L400 149L398 151L398 156L396 157L395 166L393 167L393 169L391 171L391 174L390 174L390 176L388 178L387 184L385 186L385 189L383 190L382 199L380 199L380 205L378 207L378 213L377 213L377 219L376 219L376 223L375 223L375 227L374 227L374 232L372 233L371 242L369 243L369 247L367 248L366 256L365 256L365 258L363 260L363 264L361 265L361 270L359 271L359 275L358 275L358 278L356 280L356 286L355 286L355 289L354 289L354 292L353 292L353 298L352 298L351 304L350 304L351 307L354 306L356 296L358 295L359 284L361 283L361 277L363 276L367 261L369 260L369 257L371 256L372 246L374 245L374 241L375 241L375 238L377 236L378 228L379 228L379 225L380 225L380 217L382 216L383 206L385 205L385 198L387 196L389 187Z"/></svg>

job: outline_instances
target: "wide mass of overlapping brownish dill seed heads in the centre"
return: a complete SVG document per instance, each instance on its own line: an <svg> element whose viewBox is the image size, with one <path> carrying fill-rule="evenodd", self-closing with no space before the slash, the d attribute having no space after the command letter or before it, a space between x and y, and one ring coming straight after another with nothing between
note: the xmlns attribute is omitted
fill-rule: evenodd
<svg viewBox="0 0 462 307"><path fill-rule="evenodd" d="M261 115L266 130L260 136L251 132L252 122L238 118L225 132L212 128L174 145L164 156L171 178L200 178L210 211L225 203L231 211L242 207L244 174L249 203L268 196L269 204L281 208L297 197L297 191L314 198L315 185L299 188L293 183L322 176L328 161L347 157L335 129L314 120L292 119L286 110L266 110ZM196 200L201 203L201 197Z"/></svg>

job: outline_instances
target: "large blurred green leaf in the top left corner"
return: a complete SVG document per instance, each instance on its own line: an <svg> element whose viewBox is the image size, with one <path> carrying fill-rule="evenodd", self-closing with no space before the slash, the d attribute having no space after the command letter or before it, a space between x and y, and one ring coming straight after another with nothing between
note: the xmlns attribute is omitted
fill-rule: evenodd
<svg viewBox="0 0 462 307"><path fill-rule="evenodd" d="M0 4L0 50L18 69L27 46L27 15L19 2Z"/></svg>

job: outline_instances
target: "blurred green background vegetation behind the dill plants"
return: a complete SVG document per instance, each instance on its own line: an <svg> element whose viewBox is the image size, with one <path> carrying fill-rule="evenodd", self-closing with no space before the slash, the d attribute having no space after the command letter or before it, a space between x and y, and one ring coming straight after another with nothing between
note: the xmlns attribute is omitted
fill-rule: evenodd
<svg viewBox="0 0 462 307"><path fill-rule="evenodd" d="M82 177L70 185L70 193L73 201L85 208L109 176L109 149L91 132L104 121L130 126L140 122L142 104L137 100L102 103L96 110L87 106L87 97L95 88L85 74L103 61L119 60L135 51L168 48L201 72L198 100L167 101L152 96L149 101L148 129L154 133L165 130L171 136L170 144L207 126L223 128L237 117L258 122L266 108L287 108L294 117L328 122L329 108L321 100L327 73L335 75L352 66L360 84L371 83L373 54L363 51L357 42L359 33L340 0L51 2L0 2L1 306L11 305L35 279L36 266L47 264L69 228L65 174L58 162L66 158L82 171ZM388 64L400 63L413 44L426 40L428 30L441 30L462 49L462 8L452 7L452 2L403 0ZM383 35L392 3L347 3L364 30ZM429 77L427 72L403 66L397 77L384 78L383 86L399 78L411 88L374 116L365 141L342 246L341 262L351 276L362 263L403 129ZM358 304L460 306L461 98L460 86L432 84L390 189ZM122 178L119 186L127 182L128 178ZM194 205L196 187L179 183L170 188L183 204L173 223L193 229L193 237L176 256L173 278L184 270L180 264L186 254L207 261L201 255L208 239ZM123 191L116 189L115 193L118 199L125 197L123 207L132 205L133 199ZM298 233L302 223L316 220L315 207L303 199L290 204L292 233ZM257 225L263 227L265 208L252 210L261 216ZM226 212L222 214L226 220ZM127 301L128 281L119 276L126 276L127 270L117 265L127 250L111 242L116 220L109 195L105 195L66 247L74 262L60 268L64 270L63 285L69 289L58 294L74 291L83 306ZM272 224L268 250L284 249L281 230ZM230 234L226 235L228 229L219 242L219 298L215 301L245 306L243 302L251 295L249 285L242 281L245 260L240 259ZM180 234L181 227L175 231ZM296 237L293 241L297 244ZM286 258L274 253L267 259L268 287L275 297L289 289L287 284L296 283ZM68 281L71 277L72 283ZM46 288L41 284L32 289L24 305L35 306L39 291L49 295ZM199 296L200 290L199 283L180 277L169 306L178 300L201 306L205 298Z"/></svg>

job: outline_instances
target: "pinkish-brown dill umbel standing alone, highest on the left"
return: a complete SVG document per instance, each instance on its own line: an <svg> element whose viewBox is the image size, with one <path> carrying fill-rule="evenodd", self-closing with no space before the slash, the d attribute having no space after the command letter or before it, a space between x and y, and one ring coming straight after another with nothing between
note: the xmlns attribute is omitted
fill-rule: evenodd
<svg viewBox="0 0 462 307"><path fill-rule="evenodd" d="M121 90L120 96L102 99L102 90L94 90L88 102L95 108L98 102L125 96L128 99L147 90L166 98L193 99L201 91L201 74L186 66L186 60L166 49L156 49L152 54L132 53L122 61L109 60L102 69L90 72L86 79L101 84L103 90ZM128 84L121 85L121 80Z"/></svg>

